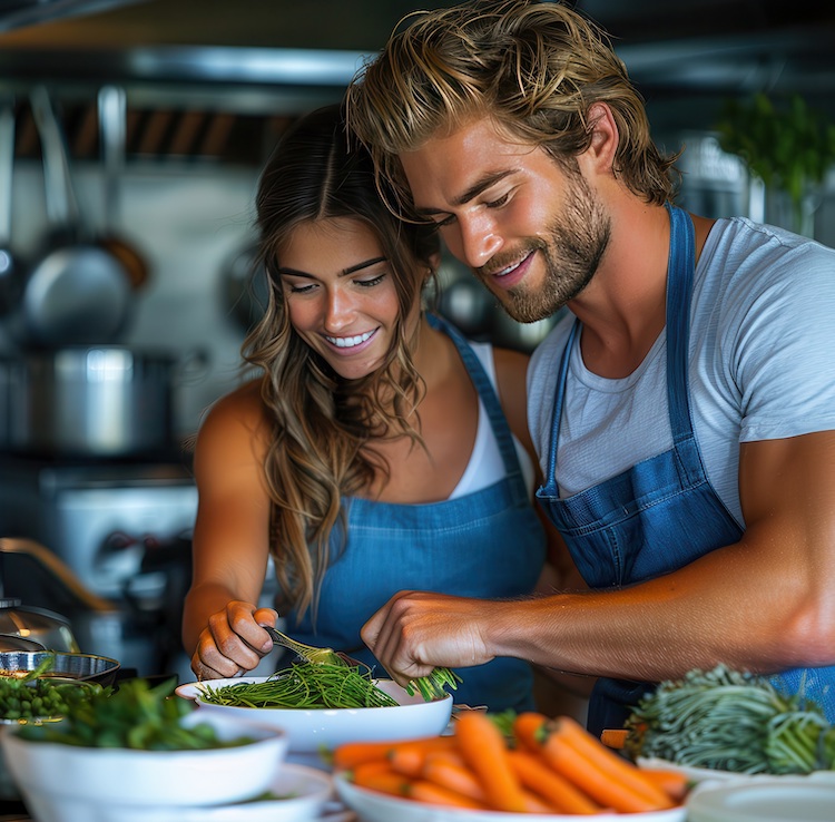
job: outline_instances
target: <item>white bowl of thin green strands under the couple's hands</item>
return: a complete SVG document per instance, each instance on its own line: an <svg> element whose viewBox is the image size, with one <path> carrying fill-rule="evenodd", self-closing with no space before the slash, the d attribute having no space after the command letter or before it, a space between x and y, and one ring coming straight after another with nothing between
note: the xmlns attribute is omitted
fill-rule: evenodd
<svg viewBox="0 0 835 822"><path fill-rule="evenodd" d="M283 728L289 738L292 753L332 751L345 742L389 742L442 733L452 715L452 696L424 702L420 694L410 696L392 679L377 679L375 684L392 696L395 707L373 708L249 708L230 705L214 705L200 699L208 687L223 687L237 683L265 682L266 676L239 676L232 679L208 679L180 685L176 693L195 699L197 713L213 713L257 722Z"/></svg>

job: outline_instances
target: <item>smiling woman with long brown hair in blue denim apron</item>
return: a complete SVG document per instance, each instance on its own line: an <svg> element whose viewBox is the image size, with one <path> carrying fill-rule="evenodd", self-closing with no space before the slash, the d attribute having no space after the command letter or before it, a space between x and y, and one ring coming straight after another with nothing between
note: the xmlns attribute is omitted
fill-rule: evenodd
<svg viewBox="0 0 835 822"><path fill-rule="evenodd" d="M271 293L243 349L257 375L212 408L195 450L194 672L234 676L272 649L261 626L277 614L256 605L271 555L287 633L372 666L360 628L397 590L531 593L546 537L527 358L424 314L436 235L389 212L337 107L283 137L257 223ZM527 663L497 659L455 698L525 710L531 688Z"/></svg>

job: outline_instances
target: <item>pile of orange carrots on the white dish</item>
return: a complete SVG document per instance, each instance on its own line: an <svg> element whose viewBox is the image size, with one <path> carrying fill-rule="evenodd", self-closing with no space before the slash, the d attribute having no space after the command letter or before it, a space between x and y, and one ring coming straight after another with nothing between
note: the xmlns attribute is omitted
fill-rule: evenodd
<svg viewBox="0 0 835 822"><path fill-rule="evenodd" d="M438 805L512 813L639 813L675 808L687 779L640 769L568 716L522 713L508 737L483 712L450 736L352 742L333 752L362 787Z"/></svg>

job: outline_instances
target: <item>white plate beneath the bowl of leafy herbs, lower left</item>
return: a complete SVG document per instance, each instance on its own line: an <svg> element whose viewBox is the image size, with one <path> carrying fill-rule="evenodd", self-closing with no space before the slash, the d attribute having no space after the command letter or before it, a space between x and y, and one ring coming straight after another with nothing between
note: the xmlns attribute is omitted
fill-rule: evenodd
<svg viewBox="0 0 835 822"><path fill-rule="evenodd" d="M271 793L283 799L204 808L120 808L111 822L306 822L333 796L331 777L304 765L282 765Z"/></svg>

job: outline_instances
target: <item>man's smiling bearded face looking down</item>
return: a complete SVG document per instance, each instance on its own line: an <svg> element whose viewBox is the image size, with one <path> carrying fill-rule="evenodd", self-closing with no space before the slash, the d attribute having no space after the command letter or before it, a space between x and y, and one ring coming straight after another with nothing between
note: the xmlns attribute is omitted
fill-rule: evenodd
<svg viewBox="0 0 835 822"><path fill-rule="evenodd" d="M551 316L589 283L610 219L579 169L471 121L400 155L418 209L520 322Z"/></svg>

